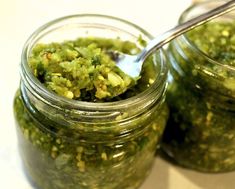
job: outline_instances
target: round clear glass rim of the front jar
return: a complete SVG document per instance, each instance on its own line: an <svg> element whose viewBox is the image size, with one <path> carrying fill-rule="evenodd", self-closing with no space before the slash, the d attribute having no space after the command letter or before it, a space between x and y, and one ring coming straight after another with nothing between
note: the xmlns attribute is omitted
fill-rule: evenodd
<svg viewBox="0 0 235 189"><path fill-rule="evenodd" d="M154 91L162 91L162 88L164 84L166 83L167 79L167 65L166 65L166 60L165 60L165 54L163 49L159 50L159 55L160 55L160 72L158 76L156 76L155 82L151 85L151 87L147 88L146 90L142 91L141 93L124 99L124 100L119 100L119 101L114 101L114 102L86 102L86 101L78 101L78 100L73 100L73 99L68 99L62 96L57 95L56 93L50 92L32 73L29 65L28 65L28 54L29 54L29 46L32 43L33 39L40 34L41 31L47 29L49 26L59 23L61 21L67 20L67 19L72 19L76 17L90 17L90 18L105 18L105 19L111 19L114 21L121 22L123 24L126 24L128 26L131 26L138 31L140 31L142 34L146 35L149 39L152 38L152 36L145 31L143 28L137 26L136 24L133 24L127 20L113 17L113 16L108 16L108 15L102 15L102 14L75 14L75 15L69 15L65 17L61 17L55 20L52 20L41 27L39 27L26 41L22 55L21 55L21 78L23 81L25 81L31 88L33 88L36 92L37 95L46 97L54 106L55 104L59 104L60 107L67 107L69 106L72 109L77 109L77 110L94 110L94 111L107 111L107 110L120 110L126 107L130 106L136 106L139 103L143 103L143 101L146 101L146 99L151 99L151 101L157 101L158 98L161 96L157 97L153 93ZM154 95L154 96L153 96ZM155 98L155 99L154 99ZM51 103L50 103L51 104Z"/></svg>

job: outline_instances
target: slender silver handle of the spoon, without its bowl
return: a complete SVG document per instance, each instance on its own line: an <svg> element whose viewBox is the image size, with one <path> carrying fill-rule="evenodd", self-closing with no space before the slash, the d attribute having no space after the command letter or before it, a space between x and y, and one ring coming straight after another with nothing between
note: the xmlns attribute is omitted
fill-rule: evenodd
<svg viewBox="0 0 235 189"><path fill-rule="evenodd" d="M206 12L198 17L190 19L183 24L180 24L167 32L163 33L159 37L154 38L152 41L148 43L148 45L143 49L143 51L138 55L137 62L144 62L146 57L150 55L153 51L159 49L166 43L175 39L179 35L198 27L216 17L219 17L225 13L232 11L235 8L235 0L231 0L215 9L212 9L209 12Z"/></svg>

